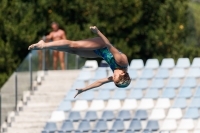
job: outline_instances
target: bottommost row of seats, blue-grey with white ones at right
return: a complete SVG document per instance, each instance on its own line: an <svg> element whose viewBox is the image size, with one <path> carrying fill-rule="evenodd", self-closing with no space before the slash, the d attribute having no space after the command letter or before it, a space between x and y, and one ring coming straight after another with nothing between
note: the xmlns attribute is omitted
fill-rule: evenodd
<svg viewBox="0 0 200 133"><path fill-rule="evenodd" d="M198 121L195 126L192 119L182 119L179 124L177 124L176 120L174 119L166 119L163 121L162 126L160 126L157 120L148 120L143 133L145 133L145 131L148 131L146 133L153 133L153 131L157 131L159 128L161 128L162 130L175 130L178 128L180 130L179 133L184 133L184 130L191 130L194 128L199 131L200 121ZM65 120L61 126L61 129L58 129L56 123L54 122L48 122L44 129L45 130L43 131L43 133L46 133L48 131L58 131L59 133L65 133L75 130L73 122L71 120ZM105 132L106 130L108 130L107 122L103 119L99 119L96 122L94 128L92 128L88 120L81 120L75 133L88 132L90 130L93 130L91 133ZM110 130L111 131L109 131L108 133L117 133L118 131L124 130L126 130L125 133L134 133L134 131L142 130L142 124L140 120L132 119L128 128L125 128L123 120L115 119Z"/></svg>

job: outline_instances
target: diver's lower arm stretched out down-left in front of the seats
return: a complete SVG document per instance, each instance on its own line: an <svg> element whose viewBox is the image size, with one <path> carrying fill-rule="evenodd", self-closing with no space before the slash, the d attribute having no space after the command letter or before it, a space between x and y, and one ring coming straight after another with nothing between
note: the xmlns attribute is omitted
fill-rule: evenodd
<svg viewBox="0 0 200 133"><path fill-rule="evenodd" d="M112 76L111 76L111 77L108 77L108 78L104 78L104 79L97 80L97 81L95 81L94 83L92 83L91 85L86 86L85 88L76 89L76 90L77 90L77 93L76 93L76 95L74 96L74 98L75 98L78 94L80 94L80 93L82 93L82 92L85 92L85 91L94 89L94 88L96 88L96 87L99 87L99 86L101 86L101 85L103 85L103 84L105 84L105 83L112 82L112 81L113 81L113 78L112 78Z"/></svg>

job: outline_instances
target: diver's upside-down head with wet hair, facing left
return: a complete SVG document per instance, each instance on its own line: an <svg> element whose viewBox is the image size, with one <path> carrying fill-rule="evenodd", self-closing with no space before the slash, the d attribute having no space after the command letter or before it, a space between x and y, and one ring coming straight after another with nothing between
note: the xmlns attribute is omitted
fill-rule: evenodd
<svg viewBox="0 0 200 133"><path fill-rule="evenodd" d="M130 84L131 79L127 72L123 70L115 70L113 75L113 81L117 87L125 88Z"/></svg>

